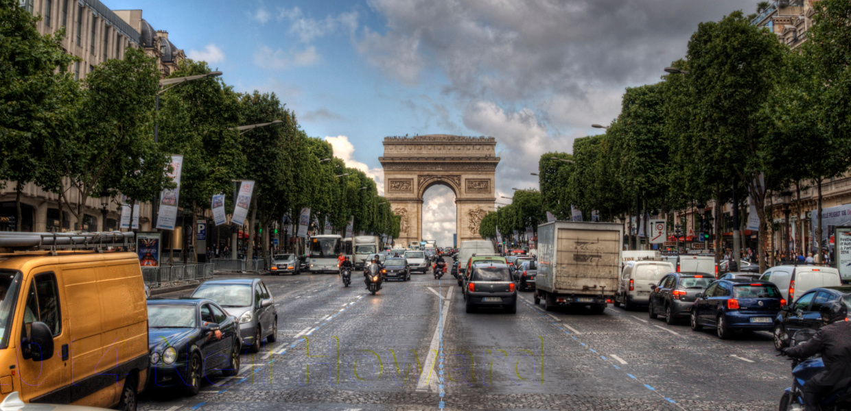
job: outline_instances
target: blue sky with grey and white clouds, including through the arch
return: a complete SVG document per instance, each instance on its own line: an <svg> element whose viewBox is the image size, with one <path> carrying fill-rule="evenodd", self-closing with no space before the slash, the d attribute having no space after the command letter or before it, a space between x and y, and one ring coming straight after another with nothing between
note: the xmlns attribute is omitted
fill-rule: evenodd
<svg viewBox="0 0 851 411"><path fill-rule="evenodd" d="M274 92L305 131L383 184L386 136L493 136L497 198L537 187L540 155L569 152L658 82L698 23L753 0L102 0L143 18L238 91ZM454 197L431 189L426 236L448 245Z"/></svg>

